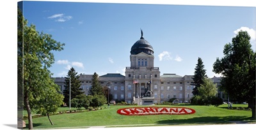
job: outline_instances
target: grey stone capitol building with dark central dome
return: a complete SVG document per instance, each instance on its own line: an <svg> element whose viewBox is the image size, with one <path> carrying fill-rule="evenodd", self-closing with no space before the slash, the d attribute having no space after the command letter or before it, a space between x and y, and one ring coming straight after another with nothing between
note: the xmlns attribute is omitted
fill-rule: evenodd
<svg viewBox="0 0 256 130"><path fill-rule="evenodd" d="M193 94L193 75L180 76L171 73L161 75L159 67L154 66L154 49L143 38L141 31L140 40L136 41L130 51L131 65L126 67L125 75L120 73L107 73L99 76L102 87L109 85L110 94L115 101L125 101L126 103L163 103L171 98L179 99L180 103L189 101ZM84 94L88 95L92 83L93 75L80 74L81 88ZM220 82L220 79L214 82ZM61 92L65 89L65 78L55 78L55 83L60 85Z"/></svg>

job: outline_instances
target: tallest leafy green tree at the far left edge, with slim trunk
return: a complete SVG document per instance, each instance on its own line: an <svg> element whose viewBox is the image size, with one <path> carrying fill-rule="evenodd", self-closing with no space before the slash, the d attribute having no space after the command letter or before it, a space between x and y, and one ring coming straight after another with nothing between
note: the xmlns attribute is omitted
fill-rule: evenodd
<svg viewBox="0 0 256 130"><path fill-rule="evenodd" d="M31 110L40 105L40 99L45 98L45 88L50 88L49 84L52 83L52 74L48 70L54 63L52 51L63 50L65 44L53 40L50 34L36 31L33 24L28 26L28 20L23 17L19 7L17 35L18 92L23 90L28 127L33 129Z"/></svg>

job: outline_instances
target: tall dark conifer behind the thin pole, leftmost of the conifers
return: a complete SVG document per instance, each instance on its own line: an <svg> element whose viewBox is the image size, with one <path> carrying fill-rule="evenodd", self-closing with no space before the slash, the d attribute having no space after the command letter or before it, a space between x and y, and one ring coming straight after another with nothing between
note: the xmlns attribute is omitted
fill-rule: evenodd
<svg viewBox="0 0 256 130"><path fill-rule="evenodd" d="M67 77L65 77L65 90L63 90L63 95L65 97L64 103L67 103L67 105L69 105L69 93L71 93L70 99L76 98L76 96L84 93L83 89L81 88L81 80L79 80L79 78L80 76L77 75L76 70L73 67L70 68ZM69 89L71 90L71 92L69 92Z"/></svg>

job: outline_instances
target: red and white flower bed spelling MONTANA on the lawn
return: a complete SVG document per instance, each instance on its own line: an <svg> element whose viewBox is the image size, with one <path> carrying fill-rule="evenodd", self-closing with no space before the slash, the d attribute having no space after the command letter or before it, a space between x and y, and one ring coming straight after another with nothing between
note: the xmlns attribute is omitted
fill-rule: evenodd
<svg viewBox="0 0 256 130"><path fill-rule="evenodd" d="M191 108L183 107L141 107L141 108L122 108L117 110L120 115L186 115L196 111Z"/></svg>

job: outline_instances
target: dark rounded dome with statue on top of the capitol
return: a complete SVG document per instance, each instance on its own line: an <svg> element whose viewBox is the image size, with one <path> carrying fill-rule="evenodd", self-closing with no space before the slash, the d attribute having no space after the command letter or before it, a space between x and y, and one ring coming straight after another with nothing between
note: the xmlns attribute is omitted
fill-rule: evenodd
<svg viewBox="0 0 256 130"><path fill-rule="evenodd" d="M142 30L141 30L140 40L136 41L136 43L132 45L131 54L136 55L136 54L140 54L141 52L144 52L145 54L148 54L148 55L154 54L153 47L148 43L147 40L143 38Z"/></svg>

